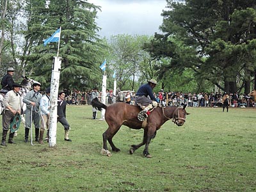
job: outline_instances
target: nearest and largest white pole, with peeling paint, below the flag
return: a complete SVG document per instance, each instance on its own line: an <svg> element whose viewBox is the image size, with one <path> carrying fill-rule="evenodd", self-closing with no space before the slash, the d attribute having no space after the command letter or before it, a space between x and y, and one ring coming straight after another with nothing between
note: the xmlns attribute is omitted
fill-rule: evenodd
<svg viewBox="0 0 256 192"><path fill-rule="evenodd" d="M51 95L50 95L50 128L49 128L49 147L56 147L57 133L57 106L58 106L58 90L60 84L60 69L61 58L54 57L52 63L52 78L51 78Z"/></svg>

